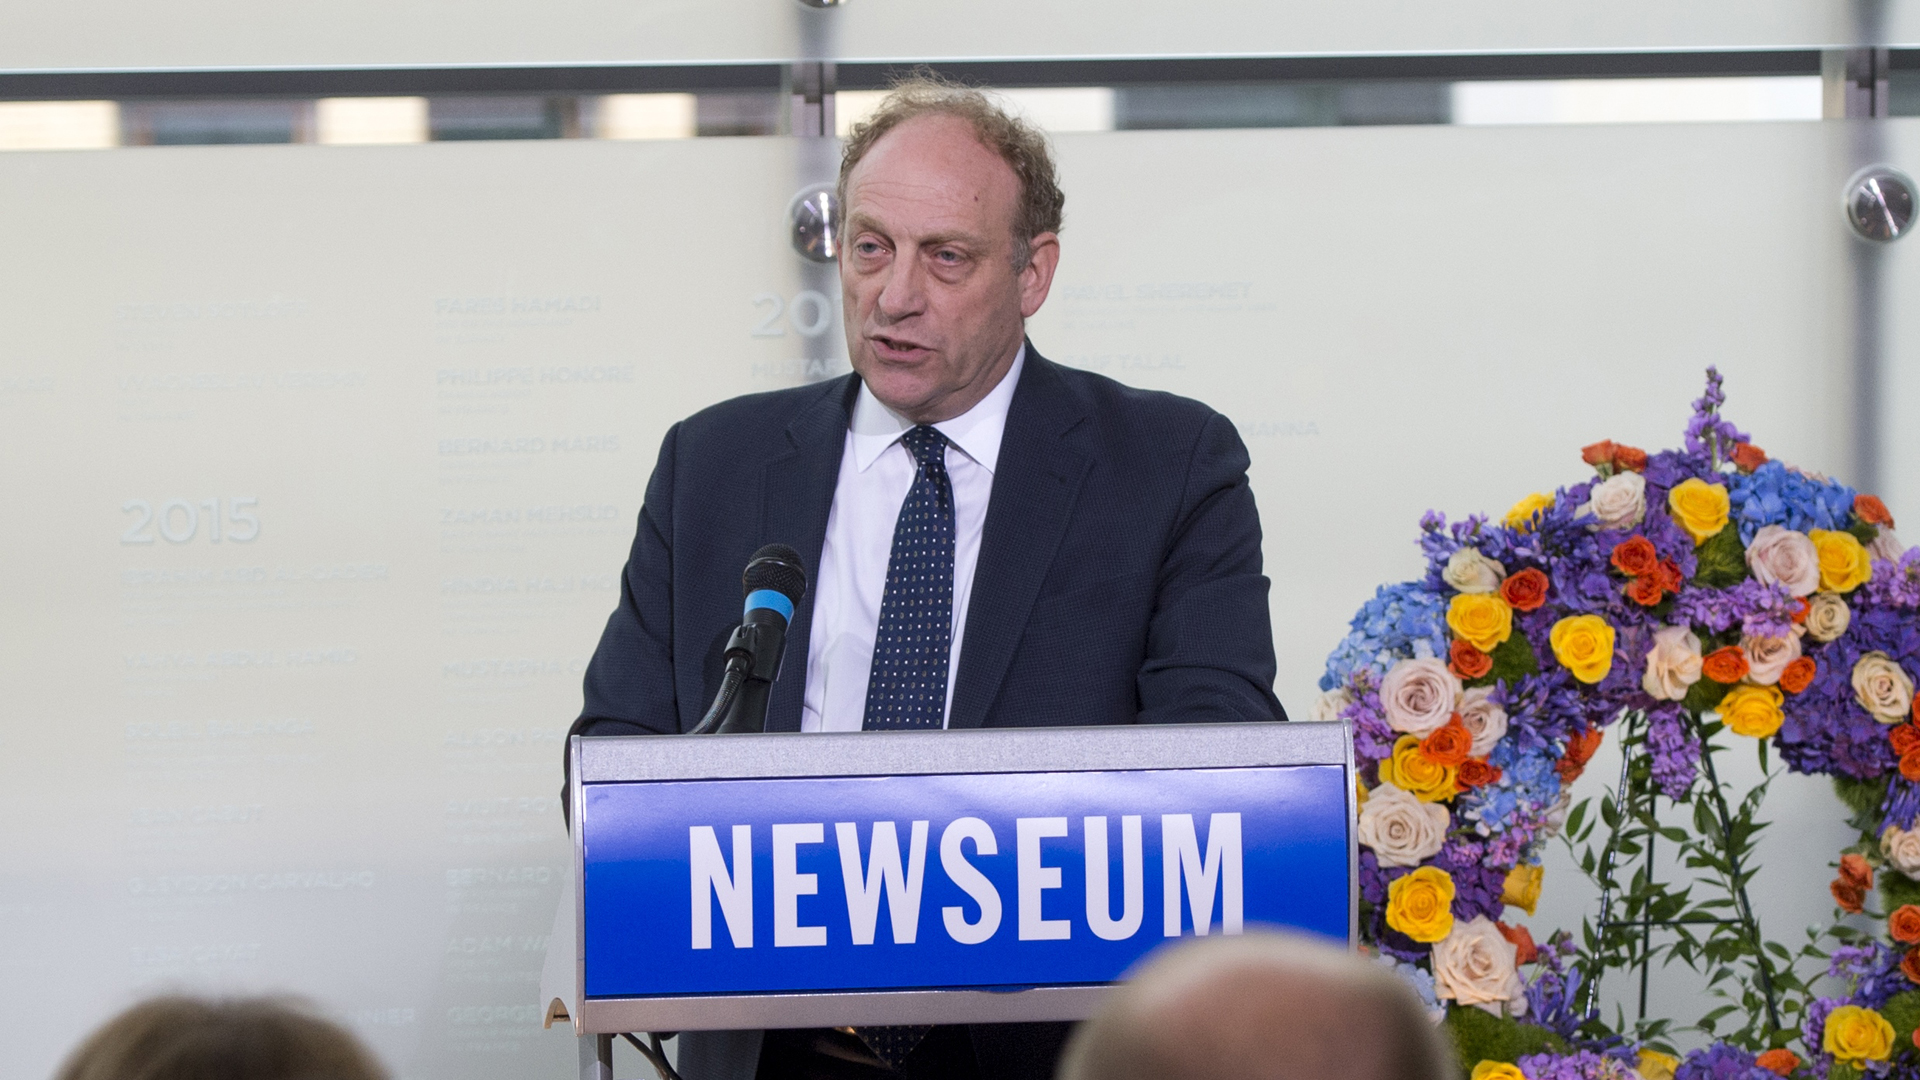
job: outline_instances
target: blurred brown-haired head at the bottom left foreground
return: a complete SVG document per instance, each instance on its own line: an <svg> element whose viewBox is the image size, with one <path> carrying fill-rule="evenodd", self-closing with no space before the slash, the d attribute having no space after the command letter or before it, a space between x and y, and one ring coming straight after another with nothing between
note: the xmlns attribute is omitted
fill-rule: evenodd
<svg viewBox="0 0 1920 1080"><path fill-rule="evenodd" d="M154 997L108 1020L56 1080L386 1080L361 1043L296 1003Z"/></svg>

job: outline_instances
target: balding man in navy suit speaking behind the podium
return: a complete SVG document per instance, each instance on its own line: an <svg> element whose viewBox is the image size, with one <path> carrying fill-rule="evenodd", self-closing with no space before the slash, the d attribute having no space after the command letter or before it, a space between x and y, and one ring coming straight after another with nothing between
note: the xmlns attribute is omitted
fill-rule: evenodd
<svg viewBox="0 0 1920 1080"><path fill-rule="evenodd" d="M1025 340L1060 263L1044 136L910 81L854 129L839 196L852 375L668 430L574 732L691 730L762 544L814 569L766 730L1284 721L1233 425ZM699 1080L1044 1080L1064 1038L707 1032L680 1053Z"/></svg>

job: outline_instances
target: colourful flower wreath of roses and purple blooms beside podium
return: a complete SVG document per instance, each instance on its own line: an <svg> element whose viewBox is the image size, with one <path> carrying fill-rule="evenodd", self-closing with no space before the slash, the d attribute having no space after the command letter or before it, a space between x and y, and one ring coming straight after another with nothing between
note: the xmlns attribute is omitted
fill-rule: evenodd
<svg viewBox="0 0 1920 1080"><path fill-rule="evenodd" d="M1709 369L1682 450L1599 442L1596 477L1498 523L1427 513L1427 577L1382 586L1327 661L1315 717L1352 724L1359 763L1363 944L1475 1080L1920 1078L1920 548L1878 498L1768 461L1722 402ZM1853 809L1832 892L1860 913L1878 872L1885 922L1836 932L1847 994L1793 1003L1799 1053L1791 1028L1684 1061L1634 1045L1576 1005L1569 934L1503 920L1532 915L1569 786L1622 715L1670 799L1724 726Z"/></svg>

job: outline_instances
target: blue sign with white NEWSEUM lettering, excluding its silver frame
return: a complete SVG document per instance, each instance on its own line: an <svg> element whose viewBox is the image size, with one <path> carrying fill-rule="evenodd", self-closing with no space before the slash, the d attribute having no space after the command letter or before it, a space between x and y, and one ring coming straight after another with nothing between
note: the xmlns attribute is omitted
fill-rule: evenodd
<svg viewBox="0 0 1920 1080"><path fill-rule="evenodd" d="M586 994L1114 982L1183 934L1348 936L1338 765L591 784Z"/></svg>

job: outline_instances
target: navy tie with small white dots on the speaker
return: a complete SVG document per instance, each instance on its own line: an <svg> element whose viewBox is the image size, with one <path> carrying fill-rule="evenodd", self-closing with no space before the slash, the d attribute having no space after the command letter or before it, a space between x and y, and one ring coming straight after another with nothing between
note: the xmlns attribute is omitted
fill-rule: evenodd
<svg viewBox="0 0 1920 1080"><path fill-rule="evenodd" d="M866 684L866 730L939 728L947 721L947 663L954 621L954 488L947 436L920 425L900 436L920 461L900 503L887 557L887 590Z"/></svg>

